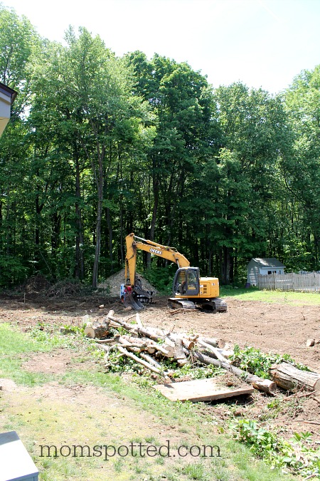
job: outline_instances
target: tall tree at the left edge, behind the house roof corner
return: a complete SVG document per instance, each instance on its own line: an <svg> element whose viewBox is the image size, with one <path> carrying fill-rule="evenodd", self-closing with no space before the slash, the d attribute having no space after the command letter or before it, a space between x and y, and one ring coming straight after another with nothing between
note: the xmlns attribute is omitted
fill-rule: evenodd
<svg viewBox="0 0 320 481"><path fill-rule="evenodd" d="M27 249L23 205L27 192L21 175L28 170L25 110L31 104L33 66L39 38L31 23L0 4L0 81L18 92L11 121L0 139L0 266L2 282L25 274ZM23 115L24 113L24 115ZM30 264L29 264L30 265Z"/></svg>

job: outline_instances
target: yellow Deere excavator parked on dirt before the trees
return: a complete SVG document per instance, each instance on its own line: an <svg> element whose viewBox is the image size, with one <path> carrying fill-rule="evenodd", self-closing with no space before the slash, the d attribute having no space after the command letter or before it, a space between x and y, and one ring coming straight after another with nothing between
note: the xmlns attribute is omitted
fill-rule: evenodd
<svg viewBox="0 0 320 481"><path fill-rule="evenodd" d="M152 293L142 286L136 272L137 249L162 257L178 265L172 286L173 296L168 299L172 308L203 309L204 311L225 312L227 303L219 297L219 280L216 277L201 277L198 267L174 247L167 247L134 234L126 237L127 254L125 264L124 306L143 309L143 304L152 300Z"/></svg>

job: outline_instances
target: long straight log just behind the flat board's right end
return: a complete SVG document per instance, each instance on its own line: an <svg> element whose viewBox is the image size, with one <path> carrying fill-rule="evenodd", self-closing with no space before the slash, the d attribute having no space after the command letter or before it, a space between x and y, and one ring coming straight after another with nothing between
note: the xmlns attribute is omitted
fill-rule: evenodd
<svg viewBox="0 0 320 481"><path fill-rule="evenodd" d="M199 353L198 351L193 351L192 356L198 361L201 361L203 364L213 364L217 368L223 368L226 371L230 371L238 378L242 378L248 384L252 384L255 389L259 389L260 391L264 391L267 394L275 395L277 391L277 384L274 381L270 381L269 379L262 379L254 374L247 373L246 371L242 371L242 369L233 366L232 364L219 361L219 359L213 359L209 356L206 356L203 353Z"/></svg>

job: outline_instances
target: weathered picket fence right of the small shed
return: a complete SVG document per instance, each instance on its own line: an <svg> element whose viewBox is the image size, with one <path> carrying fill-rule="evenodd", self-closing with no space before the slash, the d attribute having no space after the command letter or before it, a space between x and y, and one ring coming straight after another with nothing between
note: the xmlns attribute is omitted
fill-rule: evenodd
<svg viewBox="0 0 320 481"><path fill-rule="evenodd" d="M272 291L304 291L320 292L320 274L308 272L306 274L268 274L258 275L259 289Z"/></svg>

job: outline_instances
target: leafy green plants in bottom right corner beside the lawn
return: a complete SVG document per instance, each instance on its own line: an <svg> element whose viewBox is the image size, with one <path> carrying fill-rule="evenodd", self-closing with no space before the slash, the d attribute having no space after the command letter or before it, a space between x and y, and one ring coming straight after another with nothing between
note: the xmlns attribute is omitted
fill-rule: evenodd
<svg viewBox="0 0 320 481"><path fill-rule="evenodd" d="M255 421L241 419L233 424L234 437L245 443L272 467L282 468L303 477L320 477L320 448L311 448L311 433L294 433L291 443Z"/></svg>

